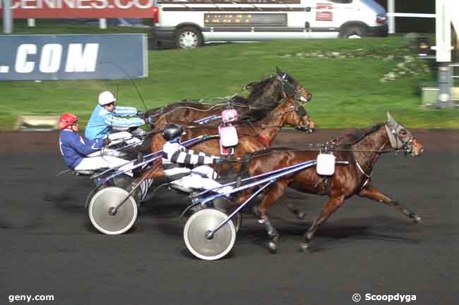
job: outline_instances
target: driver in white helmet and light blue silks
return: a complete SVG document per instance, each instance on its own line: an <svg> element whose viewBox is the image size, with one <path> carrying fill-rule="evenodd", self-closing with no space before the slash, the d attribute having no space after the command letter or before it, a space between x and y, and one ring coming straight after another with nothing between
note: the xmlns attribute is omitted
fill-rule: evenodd
<svg viewBox="0 0 459 305"><path fill-rule="evenodd" d="M115 97L112 92L104 91L99 94L98 105L94 108L93 113L86 125L85 137L88 139L104 139L109 134L110 139L126 139L127 144L140 144L141 140L132 137L129 132L112 133L113 128L128 129L145 124L145 120L138 118L143 113L137 111L134 107L115 106ZM131 116L131 118L122 118ZM136 135L143 135L145 132L141 129L134 130Z"/></svg>

